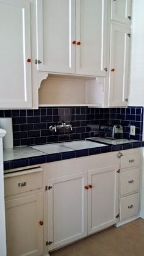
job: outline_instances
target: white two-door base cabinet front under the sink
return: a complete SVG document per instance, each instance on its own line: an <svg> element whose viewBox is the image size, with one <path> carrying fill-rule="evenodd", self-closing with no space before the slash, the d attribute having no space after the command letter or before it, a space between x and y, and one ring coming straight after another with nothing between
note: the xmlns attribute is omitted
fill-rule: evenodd
<svg viewBox="0 0 144 256"><path fill-rule="evenodd" d="M49 251L118 222L119 162L106 153L43 164Z"/></svg>

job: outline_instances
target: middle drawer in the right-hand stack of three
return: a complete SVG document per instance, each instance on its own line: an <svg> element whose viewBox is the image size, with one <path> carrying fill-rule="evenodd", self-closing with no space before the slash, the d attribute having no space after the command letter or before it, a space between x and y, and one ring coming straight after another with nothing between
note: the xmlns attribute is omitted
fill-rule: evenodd
<svg viewBox="0 0 144 256"><path fill-rule="evenodd" d="M140 169L121 172L121 196L139 190Z"/></svg>

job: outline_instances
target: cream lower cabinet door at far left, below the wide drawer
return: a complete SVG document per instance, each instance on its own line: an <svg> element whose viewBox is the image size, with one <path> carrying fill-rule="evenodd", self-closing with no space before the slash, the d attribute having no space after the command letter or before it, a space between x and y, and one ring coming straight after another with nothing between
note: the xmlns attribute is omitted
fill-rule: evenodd
<svg viewBox="0 0 144 256"><path fill-rule="evenodd" d="M7 256L43 255L42 192L6 200L5 218Z"/></svg>

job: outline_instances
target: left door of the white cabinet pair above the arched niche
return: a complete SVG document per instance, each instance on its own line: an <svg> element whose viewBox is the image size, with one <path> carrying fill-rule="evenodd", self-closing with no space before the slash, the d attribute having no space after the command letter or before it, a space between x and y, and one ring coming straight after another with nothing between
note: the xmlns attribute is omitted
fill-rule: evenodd
<svg viewBox="0 0 144 256"><path fill-rule="evenodd" d="M37 68L74 73L75 0L37 0Z"/></svg>

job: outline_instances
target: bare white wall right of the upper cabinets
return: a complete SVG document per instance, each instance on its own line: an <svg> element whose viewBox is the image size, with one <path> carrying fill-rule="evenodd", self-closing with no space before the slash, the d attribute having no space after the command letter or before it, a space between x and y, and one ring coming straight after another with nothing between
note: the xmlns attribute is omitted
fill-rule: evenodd
<svg viewBox="0 0 144 256"><path fill-rule="evenodd" d="M133 0L129 106L144 106L144 1Z"/></svg>

